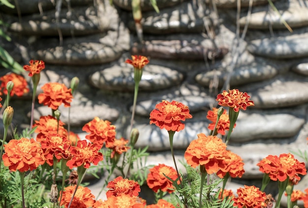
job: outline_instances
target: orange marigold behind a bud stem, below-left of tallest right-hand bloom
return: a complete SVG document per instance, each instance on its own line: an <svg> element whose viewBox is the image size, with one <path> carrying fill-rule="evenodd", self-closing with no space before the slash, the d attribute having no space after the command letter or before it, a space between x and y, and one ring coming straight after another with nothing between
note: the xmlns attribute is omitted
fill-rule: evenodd
<svg viewBox="0 0 308 208"><path fill-rule="evenodd" d="M216 120L217 120L217 108L213 108L213 110L208 111L207 119L211 120L212 123L209 124L209 129L214 131ZM234 124L234 127L236 124ZM225 135L225 131L229 131L230 128L230 120L227 114L227 110L224 110L222 115L219 117L216 129L217 133L221 135Z"/></svg>

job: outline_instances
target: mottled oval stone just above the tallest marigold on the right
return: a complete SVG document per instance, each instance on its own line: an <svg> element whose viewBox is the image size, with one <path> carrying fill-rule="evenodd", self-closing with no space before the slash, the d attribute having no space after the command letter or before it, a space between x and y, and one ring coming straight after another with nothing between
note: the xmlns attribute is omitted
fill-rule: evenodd
<svg viewBox="0 0 308 208"><path fill-rule="evenodd" d="M262 60L240 65L232 71L230 85L239 86L271 79L275 77L277 73L277 66L267 64L266 62L262 62ZM205 87L210 86L214 79L218 79L218 87L222 87L228 74L225 68L221 67L216 70L197 74L195 79L197 83Z"/></svg>

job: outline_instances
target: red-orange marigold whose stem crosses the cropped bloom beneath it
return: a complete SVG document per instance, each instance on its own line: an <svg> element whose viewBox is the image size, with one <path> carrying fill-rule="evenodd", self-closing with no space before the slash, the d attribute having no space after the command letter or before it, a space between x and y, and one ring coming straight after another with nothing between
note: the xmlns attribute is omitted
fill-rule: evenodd
<svg viewBox="0 0 308 208"><path fill-rule="evenodd" d="M89 168L91 163L97 165L99 161L103 160L103 155L101 152L98 152L97 145L88 144L86 140L78 141L76 147L70 148L70 152L72 158L66 162L66 166L69 169L79 166Z"/></svg>

